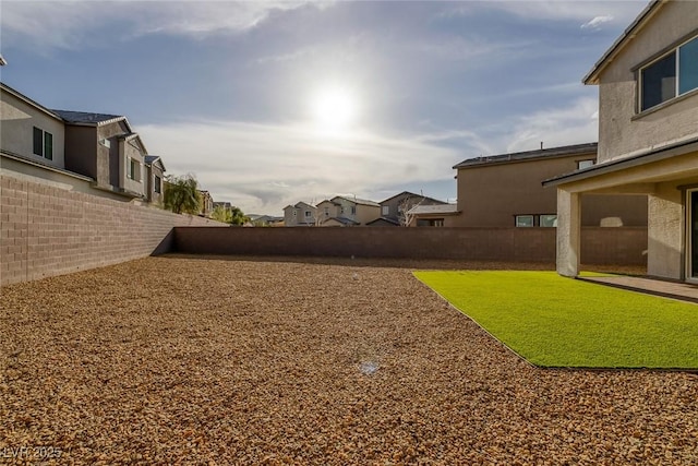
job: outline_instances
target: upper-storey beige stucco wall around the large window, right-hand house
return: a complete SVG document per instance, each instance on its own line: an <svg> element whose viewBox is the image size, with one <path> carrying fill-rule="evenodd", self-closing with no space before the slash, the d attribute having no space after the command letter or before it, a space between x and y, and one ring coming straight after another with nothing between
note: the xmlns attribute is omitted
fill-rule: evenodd
<svg viewBox="0 0 698 466"><path fill-rule="evenodd" d="M638 107L633 69L688 34L698 34L698 5L670 1L651 21L599 76L599 162L698 135L695 91L633 119Z"/></svg>

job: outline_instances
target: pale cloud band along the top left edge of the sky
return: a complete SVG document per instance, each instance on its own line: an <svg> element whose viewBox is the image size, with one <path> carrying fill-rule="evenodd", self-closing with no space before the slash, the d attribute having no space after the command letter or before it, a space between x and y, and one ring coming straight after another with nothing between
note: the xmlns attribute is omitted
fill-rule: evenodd
<svg viewBox="0 0 698 466"><path fill-rule="evenodd" d="M4 1L3 40L38 47L75 49L151 34L206 37L240 34L260 26L274 12L332 2L266 1Z"/></svg>

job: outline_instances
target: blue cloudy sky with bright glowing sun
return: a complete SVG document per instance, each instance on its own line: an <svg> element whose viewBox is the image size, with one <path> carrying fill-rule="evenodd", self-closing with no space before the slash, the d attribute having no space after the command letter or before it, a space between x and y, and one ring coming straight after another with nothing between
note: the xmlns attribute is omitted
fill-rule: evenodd
<svg viewBox="0 0 698 466"><path fill-rule="evenodd" d="M456 201L467 158L595 142L582 77L646 0L0 2L0 80L123 115L168 175L282 215Z"/></svg>

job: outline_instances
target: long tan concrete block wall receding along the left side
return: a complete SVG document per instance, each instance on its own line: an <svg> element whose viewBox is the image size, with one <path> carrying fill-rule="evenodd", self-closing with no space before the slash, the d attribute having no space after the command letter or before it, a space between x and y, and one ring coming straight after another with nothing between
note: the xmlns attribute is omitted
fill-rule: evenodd
<svg viewBox="0 0 698 466"><path fill-rule="evenodd" d="M0 175L0 285L167 250L176 226L222 226L10 174Z"/></svg>

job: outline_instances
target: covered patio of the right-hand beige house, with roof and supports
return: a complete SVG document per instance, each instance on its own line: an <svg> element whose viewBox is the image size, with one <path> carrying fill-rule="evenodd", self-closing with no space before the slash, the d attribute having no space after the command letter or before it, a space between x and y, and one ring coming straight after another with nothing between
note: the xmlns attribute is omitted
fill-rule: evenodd
<svg viewBox="0 0 698 466"><path fill-rule="evenodd" d="M557 188L561 275L579 275L581 196L648 196L647 272L698 283L698 138L652 147L543 182Z"/></svg>

